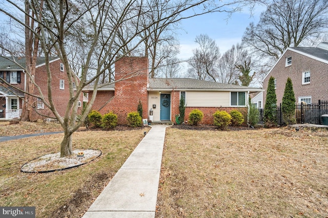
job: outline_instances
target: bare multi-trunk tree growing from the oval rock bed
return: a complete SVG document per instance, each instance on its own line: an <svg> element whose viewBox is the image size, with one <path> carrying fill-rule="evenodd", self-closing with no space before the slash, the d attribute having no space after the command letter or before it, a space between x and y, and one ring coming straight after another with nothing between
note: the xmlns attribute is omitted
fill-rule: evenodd
<svg viewBox="0 0 328 218"><path fill-rule="evenodd" d="M163 0L162 4L165 5L165 2L169 1ZM41 99L44 105L50 108L51 112L64 129L64 138L60 145L61 157L73 153L72 134L79 128L90 112L98 88L122 79L131 78L136 74L136 72L132 72L120 80L116 79L115 81L107 83L102 83L100 80L101 75L104 75L104 72L106 71L109 72L109 69L114 66L117 60L122 56L135 52L142 43L144 43L146 37L140 37L140 33L144 32L146 28L149 28L158 21L168 20L168 23L176 23L179 19L187 17L181 16L179 19L172 19L172 17L194 7L203 7L203 10L198 13L202 14L215 11L226 11L228 10L227 8L232 7L233 5L240 7L242 4L253 1L235 0L228 4L206 0L184 0L172 2L172 4L168 4L167 8L161 8L161 10L166 11L165 15L155 19L153 22L149 23L148 26L140 26L136 25L140 21L140 15L148 13L149 11L149 5L144 1L58 0L45 1L44 5L42 5L37 0L26 0L25 4L29 6L32 13L34 13L34 16L30 16L25 11L25 7L22 8L20 4L8 1L8 4L10 4L11 7L14 7L20 13L28 15L29 18L34 21L35 26L38 27L37 30L19 20L16 14L10 13L10 11L3 7L0 8L1 13L15 20L20 26L27 28L33 33L34 37L39 40L40 49L46 60L48 89L47 94L45 95L40 89L40 86L32 80L38 93L37 95L34 95L34 97ZM155 8L152 9L158 10ZM231 9L230 11L234 10L235 9ZM196 15L197 14L193 16ZM83 22L83 24L81 22ZM88 28L86 28L85 31L79 31L77 33L77 28L74 27L80 25ZM146 36L154 33L158 28L160 27L152 29ZM70 66L70 55L73 53L69 52L70 50L67 48L68 33L75 34L77 40L82 39L88 41L88 43L83 44L85 46L84 56L81 58L83 63L79 63L81 67L79 68L78 75L73 72ZM68 81L70 96L67 99L66 113L64 117L58 113L53 102L53 90L51 88L52 75L49 65L50 57L52 55L60 57L67 71L66 80ZM77 63L77 61L74 63ZM26 74L28 77L32 78L29 71L26 70ZM91 84L93 84L93 95L91 96L85 111L81 114L81 119L76 121L78 100L81 91L86 85Z"/></svg>

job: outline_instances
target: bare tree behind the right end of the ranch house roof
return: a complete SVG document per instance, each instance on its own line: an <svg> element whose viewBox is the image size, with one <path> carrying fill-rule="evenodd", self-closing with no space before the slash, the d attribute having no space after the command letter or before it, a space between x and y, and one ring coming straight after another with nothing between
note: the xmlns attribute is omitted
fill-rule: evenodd
<svg viewBox="0 0 328 218"><path fill-rule="evenodd" d="M236 66L246 60L247 56L247 51L239 43L236 46L233 45L227 52L224 52L218 61L217 81L228 84L238 83L239 71Z"/></svg>

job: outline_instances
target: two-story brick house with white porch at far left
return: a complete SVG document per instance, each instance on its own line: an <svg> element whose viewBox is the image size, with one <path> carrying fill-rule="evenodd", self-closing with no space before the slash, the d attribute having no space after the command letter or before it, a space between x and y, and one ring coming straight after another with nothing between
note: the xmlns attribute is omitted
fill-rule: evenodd
<svg viewBox="0 0 328 218"><path fill-rule="evenodd" d="M12 58L11 58L12 59ZM25 67L25 57L15 58L20 66ZM67 81L67 73L64 64L58 57L50 57L50 71L52 76L52 98L58 113L61 116L65 115L66 105L69 99L69 89ZM19 67L16 63L8 60L5 57L0 57L0 78L14 86L15 89L7 86L4 82L0 83L0 119L9 120L20 118L25 94L21 91L26 91L26 79L24 69ZM38 57L35 70L35 82L39 85L46 100L48 100L48 87L47 87L47 70L44 57ZM39 95L37 89L34 89L34 94ZM34 98L33 106L35 111L40 114L54 117L52 112L44 105L42 101ZM83 95L80 96L81 106L83 106ZM42 119L43 116L33 112L32 119Z"/></svg>

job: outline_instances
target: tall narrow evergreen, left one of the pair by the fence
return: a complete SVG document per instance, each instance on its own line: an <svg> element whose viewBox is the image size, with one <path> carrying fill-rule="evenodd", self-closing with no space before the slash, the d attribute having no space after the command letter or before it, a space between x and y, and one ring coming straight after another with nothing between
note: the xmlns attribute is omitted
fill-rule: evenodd
<svg viewBox="0 0 328 218"><path fill-rule="evenodd" d="M277 125L277 95L274 82L275 78L270 77L264 105L264 123L268 127Z"/></svg>

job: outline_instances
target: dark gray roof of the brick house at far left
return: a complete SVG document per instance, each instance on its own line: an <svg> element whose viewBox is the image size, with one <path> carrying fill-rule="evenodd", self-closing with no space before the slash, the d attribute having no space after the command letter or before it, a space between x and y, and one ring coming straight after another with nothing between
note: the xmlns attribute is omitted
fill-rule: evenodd
<svg viewBox="0 0 328 218"><path fill-rule="evenodd" d="M24 70L25 68L25 57L14 57L16 62L20 64L22 67L18 66L15 62L13 62L12 57L0 57L0 71L8 71L8 70ZM49 57L49 60L55 60L58 57ZM37 57L36 66L45 63L45 57Z"/></svg>

